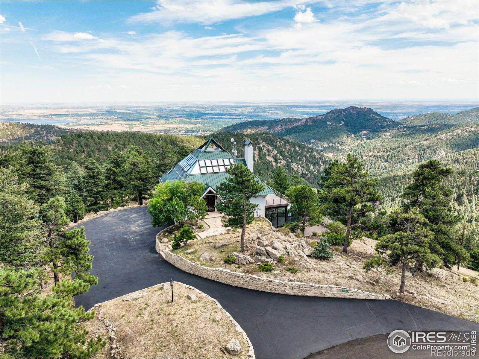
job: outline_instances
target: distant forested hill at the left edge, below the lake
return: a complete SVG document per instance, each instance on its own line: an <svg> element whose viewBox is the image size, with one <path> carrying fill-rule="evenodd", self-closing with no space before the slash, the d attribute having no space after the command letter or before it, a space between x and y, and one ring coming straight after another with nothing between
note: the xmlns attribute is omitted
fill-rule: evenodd
<svg viewBox="0 0 479 359"><path fill-rule="evenodd" d="M23 141L45 141L47 138L72 132L75 131L50 124L0 122L0 145L14 145Z"/></svg>

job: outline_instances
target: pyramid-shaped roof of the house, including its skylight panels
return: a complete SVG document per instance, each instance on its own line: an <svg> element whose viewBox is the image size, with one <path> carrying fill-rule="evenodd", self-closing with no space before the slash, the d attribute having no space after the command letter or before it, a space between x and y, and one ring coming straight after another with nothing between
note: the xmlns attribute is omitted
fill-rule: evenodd
<svg viewBox="0 0 479 359"><path fill-rule="evenodd" d="M244 158L233 157L213 138L210 138L161 176L160 182L165 183L166 181L183 179L188 182L198 181L205 184L205 191L209 188L216 191L217 185L228 177L226 170L236 163L243 163L246 166ZM258 177L256 179L264 184ZM258 195L273 193L274 191L265 185L264 191Z"/></svg>

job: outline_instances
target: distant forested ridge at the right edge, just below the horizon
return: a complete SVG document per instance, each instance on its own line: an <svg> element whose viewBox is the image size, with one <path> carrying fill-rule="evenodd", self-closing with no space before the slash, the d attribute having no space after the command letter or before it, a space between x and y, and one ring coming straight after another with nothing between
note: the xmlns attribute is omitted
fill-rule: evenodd
<svg viewBox="0 0 479 359"><path fill-rule="evenodd" d="M400 121L407 126L427 124L462 124L479 122L479 107L458 113L430 112L409 116Z"/></svg>

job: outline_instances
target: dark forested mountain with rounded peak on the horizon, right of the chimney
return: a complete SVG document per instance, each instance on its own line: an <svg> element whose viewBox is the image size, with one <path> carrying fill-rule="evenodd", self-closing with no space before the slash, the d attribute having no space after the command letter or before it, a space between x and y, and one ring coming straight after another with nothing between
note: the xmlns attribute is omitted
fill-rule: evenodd
<svg viewBox="0 0 479 359"><path fill-rule="evenodd" d="M365 108L350 106L336 109L324 115L302 119L249 121L223 128L221 131L269 132L303 143L325 145L340 143L351 135L370 136L381 131L402 127L396 121Z"/></svg>

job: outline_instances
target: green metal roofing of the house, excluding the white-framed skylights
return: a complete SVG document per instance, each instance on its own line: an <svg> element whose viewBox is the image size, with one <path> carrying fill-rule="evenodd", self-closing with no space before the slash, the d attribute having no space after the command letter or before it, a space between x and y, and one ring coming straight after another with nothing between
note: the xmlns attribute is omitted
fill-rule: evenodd
<svg viewBox="0 0 479 359"><path fill-rule="evenodd" d="M215 147L214 150L209 150L209 146L213 144ZM174 181L174 180L186 180L188 182L198 181L200 183L205 184L205 191L208 190L209 187L216 191L217 185L221 182L224 182L228 177L227 172L219 172L219 173L204 173L204 174L190 174L193 170L196 162L198 160L204 159L218 159L218 158L233 158L234 163L243 163L246 166L246 160L244 158L235 158L233 157L227 150L221 147L214 139L210 138L206 141L203 145L199 146L196 150L194 150L191 154L184 157L178 164L172 167L168 172L163 174L160 177L160 182L165 183L166 181ZM254 176L256 177L256 175ZM260 183L265 185L264 191L258 193L259 196L265 194L274 194L274 191L266 185L261 179L256 177L260 181Z"/></svg>

